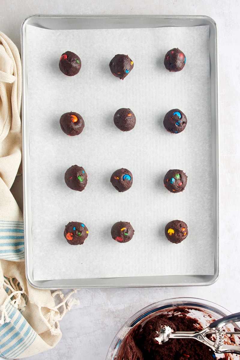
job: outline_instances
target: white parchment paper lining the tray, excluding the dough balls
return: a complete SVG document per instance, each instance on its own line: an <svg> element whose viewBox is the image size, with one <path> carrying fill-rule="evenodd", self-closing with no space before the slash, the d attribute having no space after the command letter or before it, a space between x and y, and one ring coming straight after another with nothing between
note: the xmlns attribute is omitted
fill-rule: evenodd
<svg viewBox="0 0 240 360"><path fill-rule="evenodd" d="M208 26L59 31L27 25L35 280L214 274L208 40ZM170 73L163 59L175 47L185 53L186 65ZM82 61L73 77L58 67L67 50ZM109 70L115 54L128 54L134 62L123 81ZM113 123L121 107L135 113L131 131ZM163 127L164 115L174 108L187 116L180 134ZM60 116L69 111L85 121L79 136L60 129ZM83 192L64 182L65 171L75 164L88 175ZM110 183L121 167L133 174L124 193ZM174 168L188 176L178 194L163 185ZM164 235L165 225L176 219L189 229L180 244ZM110 234L120 220L135 229L125 244ZM66 242L69 221L89 229L83 245Z"/></svg>

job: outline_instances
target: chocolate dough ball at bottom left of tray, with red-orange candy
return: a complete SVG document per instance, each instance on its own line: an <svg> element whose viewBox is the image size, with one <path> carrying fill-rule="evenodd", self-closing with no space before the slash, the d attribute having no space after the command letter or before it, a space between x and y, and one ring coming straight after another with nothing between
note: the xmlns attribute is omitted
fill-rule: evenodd
<svg viewBox="0 0 240 360"><path fill-rule="evenodd" d="M64 237L70 245L82 245L88 237L88 229L82 222L72 221L65 226Z"/></svg>

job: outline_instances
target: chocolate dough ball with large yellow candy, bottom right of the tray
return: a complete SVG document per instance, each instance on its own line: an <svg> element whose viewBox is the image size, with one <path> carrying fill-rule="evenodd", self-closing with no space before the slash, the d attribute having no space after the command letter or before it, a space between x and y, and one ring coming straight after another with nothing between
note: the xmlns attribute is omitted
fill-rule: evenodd
<svg viewBox="0 0 240 360"><path fill-rule="evenodd" d="M165 226L166 238L171 243L179 244L182 240L186 239L188 235L187 224L181 220L173 220L168 222Z"/></svg>

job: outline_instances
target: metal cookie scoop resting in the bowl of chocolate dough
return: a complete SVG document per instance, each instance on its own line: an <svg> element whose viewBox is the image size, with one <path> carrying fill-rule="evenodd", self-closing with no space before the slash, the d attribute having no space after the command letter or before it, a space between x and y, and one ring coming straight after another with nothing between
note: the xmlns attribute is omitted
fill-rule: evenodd
<svg viewBox="0 0 240 360"><path fill-rule="evenodd" d="M214 352L223 353L223 352L232 352L234 354L240 354L240 346L237 345L223 345L224 335L225 334L240 334L239 332L227 332L223 330L223 326L229 323L235 323L240 321L240 312L231 314L221 318L219 320L213 321L207 328L201 331L173 331L168 326L163 327L159 331L159 337L155 338L159 344L162 344L168 341L169 338L187 338L187 339L196 339L203 344L209 346ZM215 335L216 340L212 341L206 338L206 335Z"/></svg>

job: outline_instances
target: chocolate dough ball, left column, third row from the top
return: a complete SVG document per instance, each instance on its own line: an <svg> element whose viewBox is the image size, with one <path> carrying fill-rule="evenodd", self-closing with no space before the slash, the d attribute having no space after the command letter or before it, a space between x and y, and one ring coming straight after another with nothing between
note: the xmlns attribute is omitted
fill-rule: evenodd
<svg viewBox="0 0 240 360"><path fill-rule="evenodd" d="M87 173L81 166L73 165L65 172L65 183L76 191L82 191L87 185Z"/></svg>

